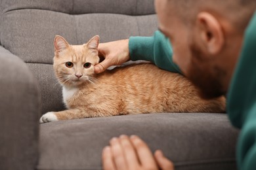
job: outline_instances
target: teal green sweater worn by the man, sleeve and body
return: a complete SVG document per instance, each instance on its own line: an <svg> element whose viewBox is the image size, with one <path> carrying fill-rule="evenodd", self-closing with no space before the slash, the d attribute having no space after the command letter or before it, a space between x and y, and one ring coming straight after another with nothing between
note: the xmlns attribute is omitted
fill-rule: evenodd
<svg viewBox="0 0 256 170"><path fill-rule="evenodd" d="M168 39L156 31L153 37L131 37L132 60L152 61L161 69L181 73L172 61ZM241 129L237 145L238 168L256 169L256 12L245 31L244 46L228 90L230 121Z"/></svg>

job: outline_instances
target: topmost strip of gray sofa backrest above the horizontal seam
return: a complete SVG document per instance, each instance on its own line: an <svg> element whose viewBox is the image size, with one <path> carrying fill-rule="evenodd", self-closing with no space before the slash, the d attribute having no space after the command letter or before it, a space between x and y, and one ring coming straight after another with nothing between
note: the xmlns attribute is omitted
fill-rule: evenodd
<svg viewBox="0 0 256 170"><path fill-rule="evenodd" d="M16 9L42 9L66 14L112 13L126 15L154 14L154 0L1 0L4 12Z"/></svg>

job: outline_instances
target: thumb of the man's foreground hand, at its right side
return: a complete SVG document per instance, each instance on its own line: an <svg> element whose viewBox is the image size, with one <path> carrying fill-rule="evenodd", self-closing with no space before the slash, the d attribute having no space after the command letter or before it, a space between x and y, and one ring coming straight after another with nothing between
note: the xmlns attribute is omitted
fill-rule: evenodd
<svg viewBox="0 0 256 170"><path fill-rule="evenodd" d="M163 170L174 170L173 163L163 156L163 152L160 150L156 150L154 157L156 158L156 162L158 166Z"/></svg>

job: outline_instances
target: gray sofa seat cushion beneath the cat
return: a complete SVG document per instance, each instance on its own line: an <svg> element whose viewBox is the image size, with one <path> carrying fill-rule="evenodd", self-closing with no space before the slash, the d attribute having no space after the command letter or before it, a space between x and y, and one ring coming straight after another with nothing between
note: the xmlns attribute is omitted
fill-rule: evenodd
<svg viewBox="0 0 256 170"><path fill-rule="evenodd" d="M226 114L163 113L87 118L41 125L38 169L100 169L111 137L139 135L176 169L236 169L238 131Z"/></svg>

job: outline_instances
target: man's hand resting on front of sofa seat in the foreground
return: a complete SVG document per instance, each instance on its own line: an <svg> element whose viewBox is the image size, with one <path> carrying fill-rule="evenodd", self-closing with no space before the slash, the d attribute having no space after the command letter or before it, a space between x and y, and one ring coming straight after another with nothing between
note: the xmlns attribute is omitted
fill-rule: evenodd
<svg viewBox="0 0 256 170"><path fill-rule="evenodd" d="M173 163L160 150L153 156L139 137L121 135L110 140L110 146L102 151L102 164L105 170L116 169L163 169L173 170Z"/></svg>

